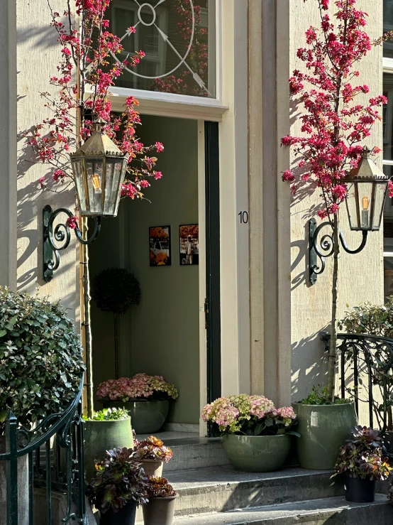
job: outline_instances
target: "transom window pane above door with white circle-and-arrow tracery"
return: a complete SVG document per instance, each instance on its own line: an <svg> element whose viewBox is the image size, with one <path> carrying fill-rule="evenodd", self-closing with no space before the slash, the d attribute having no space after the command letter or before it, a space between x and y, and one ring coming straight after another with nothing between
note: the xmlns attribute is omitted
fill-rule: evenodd
<svg viewBox="0 0 393 525"><path fill-rule="evenodd" d="M113 0L109 16L124 48L116 60L145 53L116 86L216 97L216 0Z"/></svg>

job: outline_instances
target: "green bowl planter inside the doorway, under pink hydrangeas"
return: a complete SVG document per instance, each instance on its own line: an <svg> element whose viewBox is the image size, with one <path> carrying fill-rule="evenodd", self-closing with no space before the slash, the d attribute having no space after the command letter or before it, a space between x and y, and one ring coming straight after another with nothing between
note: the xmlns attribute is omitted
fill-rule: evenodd
<svg viewBox="0 0 393 525"><path fill-rule="evenodd" d="M109 406L109 402L104 406ZM151 434L162 428L170 408L169 401L111 401L110 406L126 408L136 434Z"/></svg>

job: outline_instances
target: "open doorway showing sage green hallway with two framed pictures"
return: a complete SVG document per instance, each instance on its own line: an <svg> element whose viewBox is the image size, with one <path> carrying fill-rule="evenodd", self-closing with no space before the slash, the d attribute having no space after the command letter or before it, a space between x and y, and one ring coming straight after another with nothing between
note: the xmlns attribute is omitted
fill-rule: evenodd
<svg viewBox="0 0 393 525"><path fill-rule="evenodd" d="M199 432L201 405L221 392L218 124L150 115L141 120L143 144L164 144L157 154L162 179L151 181L147 200L124 199L118 217L103 221L90 269L92 278L111 266L138 278L140 305L118 323L120 375L165 377L179 391L167 429ZM165 229L165 247L151 240L151 228ZM190 235L192 258L186 253ZM170 264L151 264L157 250ZM92 335L96 389L114 377L114 330L111 314L94 303Z"/></svg>

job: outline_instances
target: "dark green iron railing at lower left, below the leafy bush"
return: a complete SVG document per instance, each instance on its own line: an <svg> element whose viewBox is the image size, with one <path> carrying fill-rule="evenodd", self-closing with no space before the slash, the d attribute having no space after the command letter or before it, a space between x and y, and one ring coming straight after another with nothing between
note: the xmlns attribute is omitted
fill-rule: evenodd
<svg viewBox="0 0 393 525"><path fill-rule="evenodd" d="M64 412L51 414L32 431L18 425L12 412L6 418L6 452L0 454L0 462L6 462L6 524L43 525L35 521L34 489L45 487L45 509L40 506L40 516L45 514L46 524L52 524L52 490L61 490L67 497L67 512L62 517L65 525L86 525L84 497L83 424L81 396L79 392ZM27 460L26 460L27 456ZM27 461L23 472L21 462ZM19 470L19 472L18 472ZM28 494L18 494L28 477ZM23 479L21 479L23 477ZM22 491L20 491L22 492ZM21 505L21 498L24 498ZM18 516L26 507L28 517ZM26 508L25 508L26 512Z"/></svg>

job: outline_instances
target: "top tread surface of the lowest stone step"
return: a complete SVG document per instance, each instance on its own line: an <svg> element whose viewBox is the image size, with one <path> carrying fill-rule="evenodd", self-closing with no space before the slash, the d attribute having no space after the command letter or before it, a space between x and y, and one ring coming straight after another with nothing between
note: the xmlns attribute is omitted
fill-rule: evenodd
<svg viewBox="0 0 393 525"><path fill-rule="evenodd" d="M387 505L387 497L384 494L375 494L374 503L350 503L345 501L345 497L331 497L323 499L306 500L302 502L292 502L277 505L267 505L266 507L253 507L250 509L239 509L231 512L216 512L214 514L201 514L194 516L179 516L175 519L175 525L240 525L258 524L262 520L278 520L293 518L293 523L297 522L297 516L307 516L321 514L321 519L329 514L337 514L345 510L364 509L365 507L381 507ZM389 508L389 507L388 507ZM392 521L393 522L393 509ZM302 521L303 522L303 521ZM281 523L281 521L279 521ZM292 521L291 521L292 523ZM322 523L322 521L321 521ZM381 524L382 525L382 524Z"/></svg>

